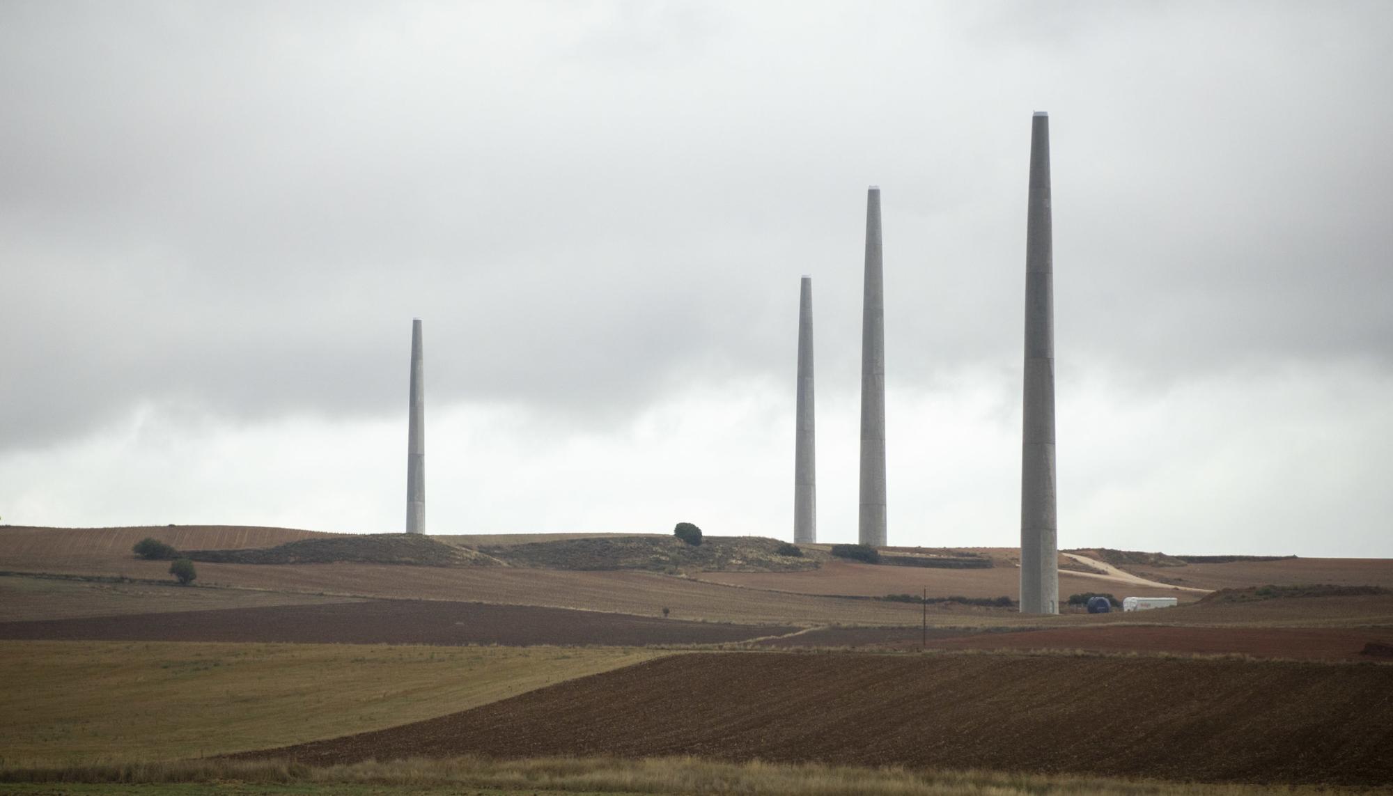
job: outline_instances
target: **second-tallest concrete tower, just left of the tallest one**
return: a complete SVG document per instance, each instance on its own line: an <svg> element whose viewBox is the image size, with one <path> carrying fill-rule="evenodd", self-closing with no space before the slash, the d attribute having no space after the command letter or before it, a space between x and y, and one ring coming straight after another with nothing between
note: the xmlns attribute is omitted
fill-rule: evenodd
<svg viewBox="0 0 1393 796"><path fill-rule="evenodd" d="M885 547L885 278L880 188L866 192L866 271L861 310L861 544Z"/></svg>

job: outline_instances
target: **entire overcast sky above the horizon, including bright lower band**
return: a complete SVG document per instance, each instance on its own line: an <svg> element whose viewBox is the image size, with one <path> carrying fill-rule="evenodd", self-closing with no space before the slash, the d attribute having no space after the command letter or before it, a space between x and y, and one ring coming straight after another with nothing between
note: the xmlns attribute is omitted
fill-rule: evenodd
<svg viewBox="0 0 1393 796"><path fill-rule="evenodd" d="M0 0L0 516L1020 540L1050 114L1059 540L1393 557L1393 3Z"/></svg>

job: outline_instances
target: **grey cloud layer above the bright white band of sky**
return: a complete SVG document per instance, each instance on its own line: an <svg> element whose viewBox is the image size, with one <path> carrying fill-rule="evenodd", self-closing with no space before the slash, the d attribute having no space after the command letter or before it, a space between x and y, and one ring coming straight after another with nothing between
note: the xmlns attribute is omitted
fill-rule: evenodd
<svg viewBox="0 0 1393 796"><path fill-rule="evenodd" d="M1004 367L1032 110L1061 362L1390 363L1387 6L876 8L7 4L0 445L398 411L412 316L432 402L791 395L802 273L853 388L871 182L892 381Z"/></svg>

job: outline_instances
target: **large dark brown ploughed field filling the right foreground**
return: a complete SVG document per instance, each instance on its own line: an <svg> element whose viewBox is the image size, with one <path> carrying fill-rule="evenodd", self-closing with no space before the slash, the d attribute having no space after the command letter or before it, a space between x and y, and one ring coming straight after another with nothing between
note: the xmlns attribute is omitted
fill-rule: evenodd
<svg viewBox="0 0 1393 796"><path fill-rule="evenodd" d="M471 711L245 757L332 764L458 754L692 754L1389 785L1389 665L695 653Z"/></svg>

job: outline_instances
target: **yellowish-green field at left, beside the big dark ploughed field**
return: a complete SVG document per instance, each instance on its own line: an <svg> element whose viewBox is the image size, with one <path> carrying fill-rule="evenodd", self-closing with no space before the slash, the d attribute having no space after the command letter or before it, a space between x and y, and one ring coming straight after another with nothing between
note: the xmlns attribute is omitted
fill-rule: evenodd
<svg viewBox="0 0 1393 796"><path fill-rule="evenodd" d="M266 749L468 710L639 648L0 642L0 765Z"/></svg>

